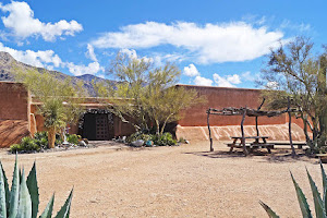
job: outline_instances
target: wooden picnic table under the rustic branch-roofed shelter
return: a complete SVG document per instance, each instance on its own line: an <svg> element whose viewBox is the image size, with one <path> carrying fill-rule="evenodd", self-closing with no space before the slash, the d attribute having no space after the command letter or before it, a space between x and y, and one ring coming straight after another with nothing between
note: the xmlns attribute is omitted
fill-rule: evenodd
<svg viewBox="0 0 327 218"><path fill-rule="evenodd" d="M242 137L242 136L231 136L231 138L233 140L232 143L227 144L227 146L230 147L229 153L232 153L233 148L243 148L246 149L244 150L244 153L247 153L247 149L250 149L251 152L253 149L256 148L267 148L268 153L271 153L271 148L274 148L275 144L271 143L267 143L267 138L269 138L269 136L246 136L246 137ZM242 138L244 138L244 144L245 147L243 146L242 143ZM251 142L249 143L249 140L251 140ZM240 141L240 142L238 142ZM246 143L247 141L247 143Z"/></svg>

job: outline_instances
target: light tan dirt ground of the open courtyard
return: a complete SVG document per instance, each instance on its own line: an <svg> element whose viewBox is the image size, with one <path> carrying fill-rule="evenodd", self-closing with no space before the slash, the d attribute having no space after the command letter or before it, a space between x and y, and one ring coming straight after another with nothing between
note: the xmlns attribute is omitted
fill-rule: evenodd
<svg viewBox="0 0 327 218"><path fill-rule="evenodd" d="M143 149L100 146L20 155L20 164L29 170L37 161L40 210L56 191L57 211L74 186L72 218L267 217L259 199L281 217L300 217L290 170L314 210L305 167L322 187L317 159L265 150L228 155L219 143L217 152L208 148L207 142ZM14 155L0 155L11 177Z"/></svg>

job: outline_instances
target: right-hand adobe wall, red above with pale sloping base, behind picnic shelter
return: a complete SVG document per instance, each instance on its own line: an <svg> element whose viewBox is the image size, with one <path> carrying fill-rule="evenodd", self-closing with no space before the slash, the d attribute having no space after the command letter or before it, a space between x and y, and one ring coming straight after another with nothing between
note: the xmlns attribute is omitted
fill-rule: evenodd
<svg viewBox="0 0 327 218"><path fill-rule="evenodd" d="M184 88L194 88L198 95L206 98L205 104L198 104L181 112L182 119L178 121L175 136L193 141L208 140L207 113L208 108L222 109L226 107L247 107L257 109L262 104L259 89L226 88L210 86L178 85ZM265 106L265 105L264 105ZM209 118L213 138L218 141L230 140L230 136L241 135L241 116L214 116ZM269 136L274 141L287 141L289 135L287 113L279 117L258 118L261 135ZM305 141L300 119L292 119L292 137L294 141ZM245 117L245 136L256 135L255 118Z"/></svg>

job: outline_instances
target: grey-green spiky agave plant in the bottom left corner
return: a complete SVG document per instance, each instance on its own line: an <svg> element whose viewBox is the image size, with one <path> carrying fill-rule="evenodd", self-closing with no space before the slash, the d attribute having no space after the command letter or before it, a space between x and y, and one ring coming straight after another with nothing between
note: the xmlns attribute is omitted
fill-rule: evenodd
<svg viewBox="0 0 327 218"><path fill-rule="evenodd" d="M38 214L39 194L36 179L35 162L25 179L24 169L17 168L17 156L15 159L11 191L0 161L0 218L36 218ZM56 218L68 218L72 203L73 190L64 205L58 211ZM51 218L55 203L55 194L50 198L44 213L39 218Z"/></svg>

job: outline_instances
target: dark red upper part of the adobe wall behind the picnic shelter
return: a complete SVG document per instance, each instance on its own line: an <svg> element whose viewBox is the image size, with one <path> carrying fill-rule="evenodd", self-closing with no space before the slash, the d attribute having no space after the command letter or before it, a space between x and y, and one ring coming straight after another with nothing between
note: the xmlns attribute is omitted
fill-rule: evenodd
<svg viewBox="0 0 327 218"><path fill-rule="evenodd" d="M256 109L262 104L259 89L227 88L213 86L191 86L178 85L184 88L194 88L201 96L207 99L205 104L199 104L182 111L182 119L178 124L182 126L205 126L207 125L206 110L208 108L222 109L225 107L245 107ZM240 116L210 116L210 125L240 125ZM275 118L261 117L258 124L284 124L288 122L286 114ZM245 118L245 125L255 125L254 118Z"/></svg>

